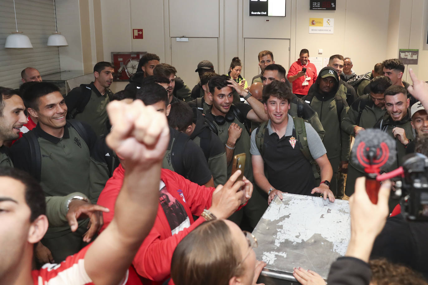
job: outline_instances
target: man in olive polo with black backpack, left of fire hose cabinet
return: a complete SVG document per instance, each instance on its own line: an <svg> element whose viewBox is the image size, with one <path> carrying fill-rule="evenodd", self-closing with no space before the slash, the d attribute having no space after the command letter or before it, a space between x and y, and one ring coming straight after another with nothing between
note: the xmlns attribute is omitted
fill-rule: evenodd
<svg viewBox="0 0 428 285"><path fill-rule="evenodd" d="M113 82L114 65L98 62L94 66L95 80L73 88L65 97L69 119L81 120L92 127L97 136L107 133L106 106L113 93L109 87Z"/></svg>

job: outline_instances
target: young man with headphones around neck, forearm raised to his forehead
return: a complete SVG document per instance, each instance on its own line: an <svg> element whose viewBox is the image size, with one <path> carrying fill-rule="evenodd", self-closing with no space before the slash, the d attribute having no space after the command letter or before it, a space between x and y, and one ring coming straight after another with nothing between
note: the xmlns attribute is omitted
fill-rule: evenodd
<svg viewBox="0 0 428 285"><path fill-rule="evenodd" d="M227 177L232 175L233 156L245 153L244 176L253 182L253 170L250 155L250 133L247 131L249 121L263 122L268 120L263 104L254 98L250 92L243 89L229 76L214 76L208 82L209 96L212 100L211 112L205 115L217 129L220 141L226 150ZM233 90L247 100L248 104L233 102ZM250 224L255 227L267 208L263 193L254 191L243 210L236 212L229 218L240 225L243 214Z"/></svg>

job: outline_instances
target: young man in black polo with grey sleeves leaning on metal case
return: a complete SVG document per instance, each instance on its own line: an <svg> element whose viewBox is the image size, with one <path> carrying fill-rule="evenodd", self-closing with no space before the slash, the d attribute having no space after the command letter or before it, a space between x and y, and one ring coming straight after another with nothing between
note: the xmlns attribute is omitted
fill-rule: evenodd
<svg viewBox="0 0 428 285"><path fill-rule="evenodd" d="M301 118L288 115L291 89L281 81L273 81L263 88L263 103L269 121L251 134L251 161L254 180L268 193L268 203L282 192L302 195L323 194L333 202L330 180L333 170L318 133ZM305 135L306 134L306 135ZM306 140L305 138L306 137ZM304 141L307 141L306 147ZM309 159L321 170L317 185ZM265 173L268 177L265 176Z"/></svg>

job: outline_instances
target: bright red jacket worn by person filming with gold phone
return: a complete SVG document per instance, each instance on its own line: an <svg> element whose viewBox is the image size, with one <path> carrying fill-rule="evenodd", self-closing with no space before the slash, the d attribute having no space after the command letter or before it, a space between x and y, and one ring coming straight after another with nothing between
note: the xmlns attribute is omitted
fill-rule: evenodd
<svg viewBox="0 0 428 285"><path fill-rule="evenodd" d="M113 219L114 205L122 187L124 172L122 165L119 165L98 198L99 205L110 209L110 212L103 213L104 225L101 231ZM133 261L137 273L148 279L143 281L143 284L162 284L169 278L172 253L174 253L175 247L182 238L205 221L203 217L193 221L192 214L199 216L204 209L211 206L212 193L215 190L215 188L199 186L167 169L162 169L160 179L165 183L167 191L184 206L191 226L172 236L168 220L159 203L155 224L141 244ZM130 226L132 226L132 221L130 221Z"/></svg>

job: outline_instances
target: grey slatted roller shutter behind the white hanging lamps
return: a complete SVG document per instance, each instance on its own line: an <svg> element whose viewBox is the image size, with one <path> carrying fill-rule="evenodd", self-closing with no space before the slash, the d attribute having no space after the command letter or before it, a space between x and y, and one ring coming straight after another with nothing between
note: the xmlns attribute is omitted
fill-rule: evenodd
<svg viewBox="0 0 428 285"><path fill-rule="evenodd" d="M37 68L40 74L59 72L58 47L48 47L55 32L53 0L15 0L18 30L30 38L33 48L6 49L6 37L16 31L12 0L0 0L0 86L18 88L21 71Z"/></svg>

